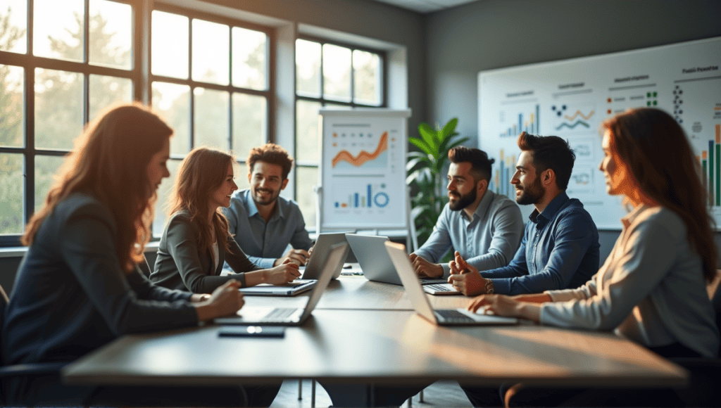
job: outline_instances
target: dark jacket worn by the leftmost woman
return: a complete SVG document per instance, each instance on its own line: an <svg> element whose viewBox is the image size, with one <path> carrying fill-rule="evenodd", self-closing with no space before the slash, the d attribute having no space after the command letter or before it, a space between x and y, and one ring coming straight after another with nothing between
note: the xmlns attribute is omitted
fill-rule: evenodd
<svg viewBox="0 0 721 408"><path fill-rule="evenodd" d="M75 360L120 334L198 324L191 293L123 272L115 236L110 211L91 195L58 203L17 272L2 327L4 363Z"/></svg>

